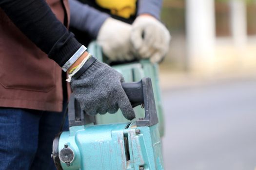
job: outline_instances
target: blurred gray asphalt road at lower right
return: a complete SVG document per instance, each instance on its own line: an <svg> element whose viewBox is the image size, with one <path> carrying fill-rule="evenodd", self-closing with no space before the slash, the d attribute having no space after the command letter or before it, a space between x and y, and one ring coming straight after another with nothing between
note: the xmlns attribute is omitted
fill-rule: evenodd
<svg viewBox="0 0 256 170"><path fill-rule="evenodd" d="M165 170L255 170L256 79L167 90Z"/></svg>

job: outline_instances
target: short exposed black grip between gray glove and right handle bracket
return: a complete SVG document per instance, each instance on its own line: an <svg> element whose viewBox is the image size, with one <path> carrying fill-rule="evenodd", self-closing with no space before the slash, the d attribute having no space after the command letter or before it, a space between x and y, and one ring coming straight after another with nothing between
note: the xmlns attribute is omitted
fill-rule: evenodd
<svg viewBox="0 0 256 170"><path fill-rule="evenodd" d="M133 107L144 104L142 83L122 83L122 87Z"/></svg>

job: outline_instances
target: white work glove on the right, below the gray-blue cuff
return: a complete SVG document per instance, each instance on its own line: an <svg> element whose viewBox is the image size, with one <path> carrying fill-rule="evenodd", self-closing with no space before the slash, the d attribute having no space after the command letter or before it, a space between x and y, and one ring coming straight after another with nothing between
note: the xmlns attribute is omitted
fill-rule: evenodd
<svg viewBox="0 0 256 170"><path fill-rule="evenodd" d="M155 17L142 15L132 25L131 42L140 58L157 63L166 55L171 35Z"/></svg>

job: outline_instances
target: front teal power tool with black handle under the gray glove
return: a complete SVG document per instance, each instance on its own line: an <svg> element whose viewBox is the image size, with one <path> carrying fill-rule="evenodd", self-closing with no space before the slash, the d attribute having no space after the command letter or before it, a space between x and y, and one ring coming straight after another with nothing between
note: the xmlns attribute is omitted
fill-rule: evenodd
<svg viewBox="0 0 256 170"><path fill-rule="evenodd" d="M69 131L54 139L57 170L163 170L158 116L150 78L123 83L133 107L144 107L137 121L95 125L71 95Z"/></svg>

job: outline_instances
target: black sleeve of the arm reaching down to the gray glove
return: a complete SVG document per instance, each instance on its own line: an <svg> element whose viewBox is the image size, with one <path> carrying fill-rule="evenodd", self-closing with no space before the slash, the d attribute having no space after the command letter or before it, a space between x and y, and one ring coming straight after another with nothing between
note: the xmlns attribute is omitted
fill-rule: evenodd
<svg viewBox="0 0 256 170"><path fill-rule="evenodd" d="M23 34L60 67L81 47L45 0L0 0L0 8Z"/></svg>

